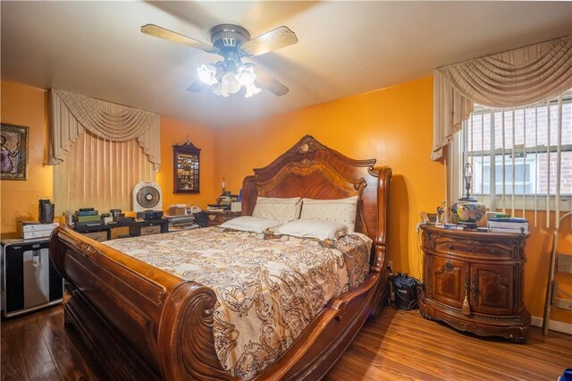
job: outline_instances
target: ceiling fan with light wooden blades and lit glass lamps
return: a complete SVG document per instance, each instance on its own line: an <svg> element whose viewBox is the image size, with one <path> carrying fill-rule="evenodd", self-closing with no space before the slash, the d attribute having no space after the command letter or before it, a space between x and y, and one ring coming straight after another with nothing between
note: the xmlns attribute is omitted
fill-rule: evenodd
<svg viewBox="0 0 572 381"><path fill-rule="evenodd" d="M243 87L246 89L245 97L259 93L260 88L268 89L278 97L289 91L279 80L254 63L242 63L244 57L264 55L296 44L296 34L287 27L278 27L251 39L248 30L238 25L221 24L211 30L212 45L154 24L142 26L141 32L223 57L223 61L202 64L197 70L198 78L190 84L189 91L196 92L210 87L214 94L223 97L235 94Z"/></svg>

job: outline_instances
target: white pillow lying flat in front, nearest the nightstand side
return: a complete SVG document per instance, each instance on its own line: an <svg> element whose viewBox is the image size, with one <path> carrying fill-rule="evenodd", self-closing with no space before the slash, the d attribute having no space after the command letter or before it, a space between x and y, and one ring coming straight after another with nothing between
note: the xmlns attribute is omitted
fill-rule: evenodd
<svg viewBox="0 0 572 381"><path fill-rule="evenodd" d="M348 227L335 221L294 220L274 229L274 233L318 240L337 240L348 234Z"/></svg>

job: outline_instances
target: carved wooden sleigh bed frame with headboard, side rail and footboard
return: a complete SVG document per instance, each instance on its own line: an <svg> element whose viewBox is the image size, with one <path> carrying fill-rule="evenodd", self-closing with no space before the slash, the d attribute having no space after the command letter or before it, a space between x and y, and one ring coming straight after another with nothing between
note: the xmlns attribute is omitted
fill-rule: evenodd
<svg viewBox="0 0 572 381"><path fill-rule="evenodd" d="M296 342L255 379L319 379L338 360L387 288L391 169L353 160L311 136L242 184L242 214L257 196L340 199L359 195L356 229L374 240L370 275L329 301ZM69 228L56 229L50 256L70 283L65 325L108 379L233 379L214 350L216 295L202 284L131 258ZM385 295L386 296L386 295Z"/></svg>

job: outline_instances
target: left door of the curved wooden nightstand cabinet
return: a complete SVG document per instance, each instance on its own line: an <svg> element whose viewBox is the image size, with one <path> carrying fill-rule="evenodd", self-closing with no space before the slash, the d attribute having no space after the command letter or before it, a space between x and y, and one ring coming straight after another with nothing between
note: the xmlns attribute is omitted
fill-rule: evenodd
<svg viewBox="0 0 572 381"><path fill-rule="evenodd" d="M433 256L432 298L460 309L468 285L468 263Z"/></svg>

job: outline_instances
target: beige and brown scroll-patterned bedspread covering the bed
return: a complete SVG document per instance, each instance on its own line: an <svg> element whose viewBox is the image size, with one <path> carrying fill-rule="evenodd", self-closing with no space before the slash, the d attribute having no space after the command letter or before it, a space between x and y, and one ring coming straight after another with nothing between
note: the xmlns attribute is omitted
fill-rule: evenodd
<svg viewBox="0 0 572 381"><path fill-rule="evenodd" d="M223 368L256 376L326 303L369 273L371 240L265 236L220 227L106 241L150 265L214 289L214 342Z"/></svg>

